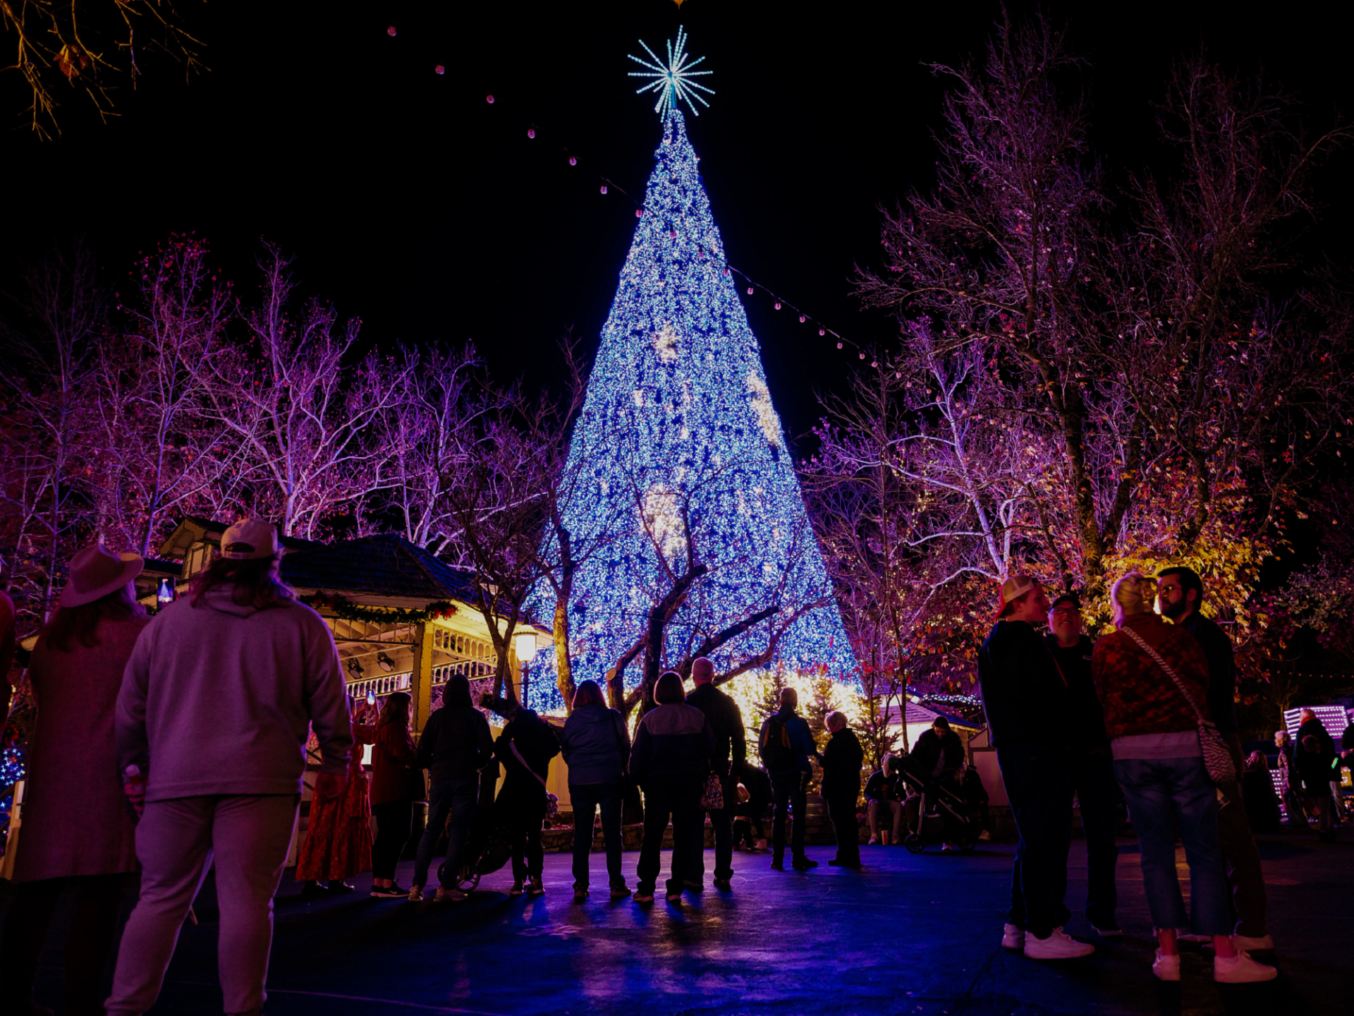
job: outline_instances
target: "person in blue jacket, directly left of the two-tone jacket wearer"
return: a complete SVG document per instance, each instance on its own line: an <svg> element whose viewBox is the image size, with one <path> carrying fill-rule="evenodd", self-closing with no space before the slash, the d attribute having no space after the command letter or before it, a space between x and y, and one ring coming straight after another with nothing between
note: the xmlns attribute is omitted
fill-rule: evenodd
<svg viewBox="0 0 1354 1016"><path fill-rule="evenodd" d="M574 691L574 711L565 721L559 748L569 767L569 799L574 809L574 902L588 898L588 856L593 814L598 809L611 898L624 899L630 887L620 870L620 778L630 761L630 732L624 717L607 708L597 681L582 681Z"/></svg>

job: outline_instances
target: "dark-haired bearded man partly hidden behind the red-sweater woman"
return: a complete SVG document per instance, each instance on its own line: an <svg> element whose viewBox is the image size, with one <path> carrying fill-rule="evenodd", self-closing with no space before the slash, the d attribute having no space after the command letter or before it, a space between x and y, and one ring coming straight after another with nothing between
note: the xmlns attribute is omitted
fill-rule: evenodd
<svg viewBox="0 0 1354 1016"><path fill-rule="evenodd" d="M1239 782L1246 764L1242 738L1236 732L1236 664L1232 658L1232 639L1198 612L1204 603L1204 580L1198 573L1189 568L1163 568L1156 580L1156 600L1162 615L1193 635L1208 660L1208 713L1217 725L1217 733L1227 741L1238 772L1238 779L1227 780L1219 787L1223 801L1217 813L1217 837L1223 845L1227 881L1232 887L1232 909L1236 912L1236 944L1246 950L1271 950L1274 940L1267 927L1265 872L1261 870L1261 852L1255 847L1251 824L1246 820Z"/></svg>

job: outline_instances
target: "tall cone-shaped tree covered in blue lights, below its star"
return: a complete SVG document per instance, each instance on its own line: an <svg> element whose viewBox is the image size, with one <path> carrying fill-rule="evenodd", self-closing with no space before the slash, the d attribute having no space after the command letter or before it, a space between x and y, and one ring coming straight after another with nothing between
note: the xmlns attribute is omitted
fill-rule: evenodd
<svg viewBox="0 0 1354 1016"><path fill-rule="evenodd" d="M684 507L697 561L709 573L668 626L668 662L760 610L779 606L784 625L802 604L830 595L757 339L724 271L723 242L676 107L663 117L655 156L570 446L570 475L581 475L563 505L574 546L612 534L574 577L575 680L601 680L642 635L649 608L670 588L659 550L676 573L684 570ZM547 584L533 591L531 610L538 618L554 614ZM726 643L714 653L716 668L764 650L768 630L764 622ZM554 654L536 664L529 704L562 708ZM766 669L781 665L826 669L857 685L834 601L788 627ZM642 676L638 658L627 685Z"/></svg>

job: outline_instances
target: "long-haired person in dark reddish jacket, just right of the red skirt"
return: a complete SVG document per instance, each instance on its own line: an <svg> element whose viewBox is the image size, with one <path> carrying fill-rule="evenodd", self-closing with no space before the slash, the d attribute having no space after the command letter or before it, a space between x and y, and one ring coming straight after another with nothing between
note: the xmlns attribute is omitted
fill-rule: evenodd
<svg viewBox="0 0 1354 1016"><path fill-rule="evenodd" d="M371 749L371 814L376 841L371 845L371 894L395 899L409 895L395 885L395 866L413 833L414 802L427 799L422 769L414 768L414 738L409 734L408 692L386 699Z"/></svg>

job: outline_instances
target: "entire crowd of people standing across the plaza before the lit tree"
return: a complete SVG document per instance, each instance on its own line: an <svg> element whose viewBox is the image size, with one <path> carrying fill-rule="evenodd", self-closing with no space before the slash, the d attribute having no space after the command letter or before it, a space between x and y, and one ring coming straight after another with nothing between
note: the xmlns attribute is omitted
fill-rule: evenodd
<svg viewBox="0 0 1354 1016"><path fill-rule="evenodd" d="M613 902L630 895L654 902L669 826L663 895L680 904L684 893L701 891L707 817L719 890L733 890L739 851L769 851L770 867L784 871L788 845L793 870L816 867L804 849L814 761L837 843L829 863L861 867L856 809L864 752L842 713L826 715L819 748L796 691L784 688L758 732L757 765L738 704L701 658L692 666L691 694L676 672L658 679L634 738L590 680L578 685L561 729L519 708L494 738L468 681L452 676L416 740L405 692L389 695L379 714L368 706L353 715L330 630L280 581L278 561L275 527L236 523L188 595L152 619L133 595L139 557L92 546L72 559L60 608L30 662L38 722L18 887L0 951L7 998L20 1011L41 1012L31 1001L38 956L66 891L77 901L66 941L66 1012L149 1009L214 867L225 1008L260 1012L274 895L297 828L307 741L320 764L297 860L303 895L353 891L348 879L370 870L372 897L463 901L466 872L486 851L486 826L500 863L510 859L510 895L543 894L542 829L556 807L548 774L561 753L574 817L575 902L590 893L598 816ZM979 654L991 744L1020 837L1002 944L1034 959L1094 952L1063 932L1075 798L1086 836L1085 913L1097 935L1120 933L1116 832L1127 805L1158 936L1154 973L1179 979L1178 943L1194 937L1215 950L1216 979L1273 978L1274 967L1250 956L1273 948L1251 830L1277 824L1278 801L1269 774L1266 799L1250 779L1257 760L1242 759L1231 642L1200 614L1204 587L1189 569L1156 578L1131 572L1114 584L1112 600L1114 631L1093 642L1074 596L1049 601L1037 580L1014 576L1001 587ZM3 635L0 650L12 652ZM1280 732L1275 745L1288 775L1281 786L1316 798L1326 837L1332 767L1349 760L1351 746L1336 749L1311 714L1296 744ZM631 889L621 868L623 824L639 803L638 788L642 844ZM937 798L955 802L949 818L937 811L946 845L988 837L986 788L944 717L910 753L886 756L864 797L871 844L919 834L926 802ZM412 882L402 887L397 866L421 802L427 821ZM1190 908L1177 876L1177 836L1190 870ZM444 862L432 872L443 837ZM121 901L137 872L137 902L104 1000ZM437 883L429 890L432 874Z"/></svg>

